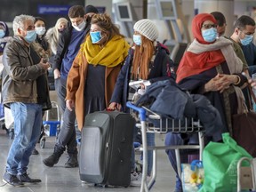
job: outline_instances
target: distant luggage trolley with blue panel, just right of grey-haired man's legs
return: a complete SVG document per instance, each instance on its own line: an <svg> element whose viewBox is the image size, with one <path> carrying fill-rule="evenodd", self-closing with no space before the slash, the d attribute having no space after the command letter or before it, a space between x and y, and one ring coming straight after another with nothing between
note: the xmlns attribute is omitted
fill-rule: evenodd
<svg viewBox="0 0 256 192"><path fill-rule="evenodd" d="M52 108L50 110L46 110L45 112L45 121L43 121L44 125L44 136L40 140L40 148L44 148L45 146L45 140L46 136L51 137L51 136L58 136L58 133L60 131L60 110L59 106L56 101L51 101L52 103ZM55 112L53 112L52 109L55 109ZM55 116L57 118L55 119L50 119L51 113L56 113Z"/></svg>

